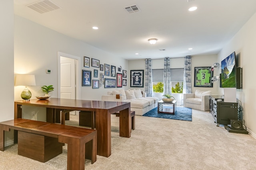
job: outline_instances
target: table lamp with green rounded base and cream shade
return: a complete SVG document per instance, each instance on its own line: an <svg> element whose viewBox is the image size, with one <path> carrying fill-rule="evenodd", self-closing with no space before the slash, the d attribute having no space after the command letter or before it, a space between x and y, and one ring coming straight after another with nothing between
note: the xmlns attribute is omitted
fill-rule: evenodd
<svg viewBox="0 0 256 170"><path fill-rule="evenodd" d="M28 90L27 86L36 86L35 75L33 74L17 74L15 86L25 86L24 90L21 92L20 97L24 101L29 101L32 94Z"/></svg>

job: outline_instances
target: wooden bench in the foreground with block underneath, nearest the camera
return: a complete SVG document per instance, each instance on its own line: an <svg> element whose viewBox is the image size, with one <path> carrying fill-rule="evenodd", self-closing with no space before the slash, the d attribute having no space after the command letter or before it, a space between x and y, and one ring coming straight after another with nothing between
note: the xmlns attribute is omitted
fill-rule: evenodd
<svg viewBox="0 0 256 170"><path fill-rule="evenodd" d="M97 132L28 119L0 122L0 150L4 151L4 131L18 131L18 154L46 162L62 153L62 143L68 144L68 170L84 170L85 157L96 161ZM86 151L86 152L85 152Z"/></svg>

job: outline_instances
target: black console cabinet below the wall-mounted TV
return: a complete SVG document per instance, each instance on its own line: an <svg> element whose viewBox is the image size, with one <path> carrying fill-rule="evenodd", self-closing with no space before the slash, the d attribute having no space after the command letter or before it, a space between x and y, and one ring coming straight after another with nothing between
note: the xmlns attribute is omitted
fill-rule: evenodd
<svg viewBox="0 0 256 170"><path fill-rule="evenodd" d="M209 96L210 113L215 123L230 125L230 120L238 120L238 104L232 102L217 101L221 99L220 95Z"/></svg>

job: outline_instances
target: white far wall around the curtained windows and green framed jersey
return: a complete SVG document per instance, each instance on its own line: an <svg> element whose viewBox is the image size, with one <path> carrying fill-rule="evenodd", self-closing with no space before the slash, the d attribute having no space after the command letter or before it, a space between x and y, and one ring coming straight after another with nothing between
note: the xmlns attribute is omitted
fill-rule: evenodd
<svg viewBox="0 0 256 170"><path fill-rule="evenodd" d="M193 56L191 59L191 76L192 76L192 92L195 92L196 89L208 91L211 90L212 94L218 93L218 82L213 84L212 88L208 87L194 87L194 67L200 66L212 66L213 63L217 62L217 55L200 55L200 56ZM131 60L128 61L129 63L129 70L127 78L127 86L130 87L130 70L145 70L145 60ZM184 58L173 58L170 59L170 67L171 68L184 68ZM164 59L152 60L152 69L161 69L164 68ZM214 76L217 76L218 72L214 70ZM129 85L128 85L129 82ZM144 88L141 88L143 91Z"/></svg>

